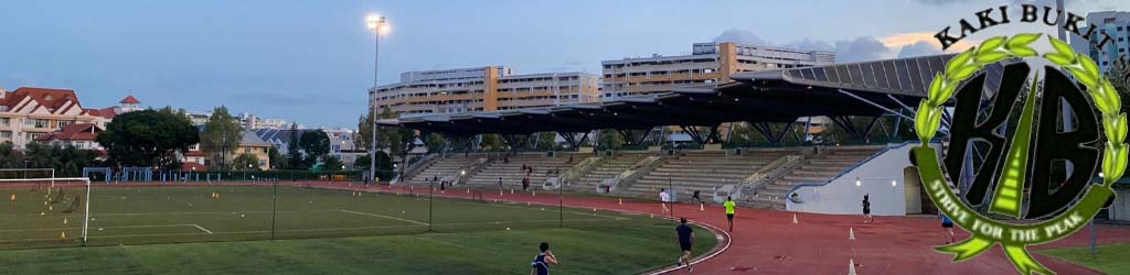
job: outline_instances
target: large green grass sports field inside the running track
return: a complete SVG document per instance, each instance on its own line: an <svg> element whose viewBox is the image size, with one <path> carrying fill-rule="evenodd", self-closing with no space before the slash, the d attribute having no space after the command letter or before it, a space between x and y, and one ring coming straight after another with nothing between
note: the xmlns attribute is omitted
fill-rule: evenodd
<svg viewBox="0 0 1130 275"><path fill-rule="evenodd" d="M0 210L0 274L527 274L541 241L555 274L631 274L678 254L650 215L293 186L94 188L77 247L85 213L63 211L80 193L0 189L18 197ZM697 232L697 252L716 243Z"/></svg>

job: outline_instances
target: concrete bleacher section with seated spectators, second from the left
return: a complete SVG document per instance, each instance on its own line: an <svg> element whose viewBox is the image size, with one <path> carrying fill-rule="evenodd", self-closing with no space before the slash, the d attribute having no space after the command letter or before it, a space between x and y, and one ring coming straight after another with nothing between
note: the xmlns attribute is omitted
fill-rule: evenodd
<svg viewBox="0 0 1130 275"><path fill-rule="evenodd" d="M502 178L506 188L520 189L522 177L525 176L525 172L522 171L522 165L525 165L533 167L533 172L530 174L530 186L533 188L545 183L546 178L558 176L557 171L567 171L588 156L575 154L572 162L568 161L570 154L567 153L559 153L553 158L546 157L545 153L515 153L507 158L508 162L503 161L503 158L494 158L483 170L470 175L467 185L494 188L498 186L498 178ZM550 172L547 174L547 171Z"/></svg>

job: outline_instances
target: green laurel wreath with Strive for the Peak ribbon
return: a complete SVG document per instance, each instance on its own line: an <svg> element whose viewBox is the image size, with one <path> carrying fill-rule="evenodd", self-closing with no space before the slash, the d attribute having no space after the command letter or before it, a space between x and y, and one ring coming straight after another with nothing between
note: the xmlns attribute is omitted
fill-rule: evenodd
<svg viewBox="0 0 1130 275"><path fill-rule="evenodd" d="M914 130L922 141L922 145L914 149L915 159L919 163L919 171L927 193L937 203L940 201L955 202L958 198L946 187L945 178L941 176L940 163L936 159L936 151L929 144L941 122L944 104L948 101L960 81L972 77L984 65L1011 57L1036 56L1037 52L1029 44L1040 38L1040 34L1018 34L1012 37L998 36L985 39L979 46L971 47L965 52L954 56L946 64L944 72L935 74L930 83L928 97L919 104L919 109L914 117ZM1120 113L1121 99L1110 80L1104 78L1089 56L1076 53L1067 43L1048 36L1054 48L1052 53L1043 54L1048 61L1067 70L1083 86L1087 88L1087 94L1095 107L1099 110L1104 131L1105 150L1101 171L1104 177L1102 183L1092 185L1092 188L1075 205L1063 211L1060 215L1033 224L1008 224L988 219L977 214L964 204L955 207L939 207L939 210L954 218L955 223L970 230L973 224L999 227L1008 231L1003 236L1014 238L1002 238L986 236L972 230L973 237L962 242L936 248L942 252L955 255L955 260L965 260L984 251L994 243L1000 243L1006 255L1016 266L1017 270L1024 274L1032 272L1042 274L1054 274L1026 251L1025 247L1033 243L1042 243L1062 238L1081 228L1080 220L1094 218L1102 205L1110 196L1113 196L1111 186L1122 177L1127 167L1127 154L1130 152L1125 143L1127 138L1127 115ZM1054 229L1049 231L1049 229ZM1032 238L1015 238L1015 236L1036 236ZM1054 233L1052 233L1054 232Z"/></svg>

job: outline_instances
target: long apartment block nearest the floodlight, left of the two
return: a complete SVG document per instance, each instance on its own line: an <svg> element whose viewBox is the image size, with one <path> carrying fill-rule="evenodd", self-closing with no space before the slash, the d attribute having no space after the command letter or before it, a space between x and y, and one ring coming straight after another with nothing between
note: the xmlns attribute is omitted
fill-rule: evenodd
<svg viewBox="0 0 1130 275"><path fill-rule="evenodd" d="M403 72L400 82L368 92L379 112L416 116L598 101L598 81L582 72L513 74L507 66L480 66Z"/></svg>

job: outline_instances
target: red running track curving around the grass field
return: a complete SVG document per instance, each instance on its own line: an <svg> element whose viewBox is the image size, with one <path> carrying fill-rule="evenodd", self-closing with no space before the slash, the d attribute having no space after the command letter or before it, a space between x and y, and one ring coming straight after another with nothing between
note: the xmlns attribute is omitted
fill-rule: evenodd
<svg viewBox="0 0 1130 275"><path fill-rule="evenodd" d="M287 184L287 183L280 183ZM403 192L401 187L363 186L345 183L295 183L330 188L350 188ZM470 196L466 188L447 188L445 196ZM416 188L426 193L426 187ZM556 193L498 194L484 190L485 199L557 204ZM664 214L655 202L592 196L564 196L564 204L581 207L600 207L645 213ZM720 206L679 204L673 206L676 216L727 228L725 215ZM973 259L951 263L949 255L937 252L933 246L945 245L940 221L936 218L876 216L873 223L863 223L860 215L827 215L797 213L799 223L792 223L792 212L742 209L737 210L731 247L718 257L695 266L696 274L847 274L849 260L854 260L859 274L1016 274L1011 263L999 246L990 248ZM853 229L855 240L847 239ZM956 229L957 239L968 238L968 233ZM1099 243L1130 242L1130 227L1097 225ZM1048 245L1029 250L1050 247L1087 246L1088 228ZM678 248L671 247L672 259ZM1045 266L1060 274L1101 274L1096 270L1033 252ZM683 273L685 269L676 272Z"/></svg>

